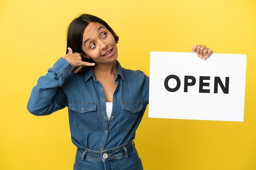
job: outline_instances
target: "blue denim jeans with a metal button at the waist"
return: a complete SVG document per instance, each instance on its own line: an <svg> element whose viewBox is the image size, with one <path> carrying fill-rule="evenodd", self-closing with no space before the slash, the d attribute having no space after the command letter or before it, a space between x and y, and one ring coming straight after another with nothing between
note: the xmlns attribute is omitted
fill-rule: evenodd
<svg viewBox="0 0 256 170"><path fill-rule="evenodd" d="M74 170L143 170L132 141L108 150L96 152L77 149Z"/></svg>

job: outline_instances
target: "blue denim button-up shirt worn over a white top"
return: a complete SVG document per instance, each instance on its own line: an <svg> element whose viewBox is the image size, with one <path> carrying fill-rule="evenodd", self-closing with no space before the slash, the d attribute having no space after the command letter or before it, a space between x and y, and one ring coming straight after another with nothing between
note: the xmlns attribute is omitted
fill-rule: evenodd
<svg viewBox="0 0 256 170"><path fill-rule="evenodd" d="M148 105L149 77L122 68L118 61L117 67L109 122L104 89L92 68L74 74L74 67L63 57L38 79L27 109L41 116L68 107L72 142L78 148L101 151L125 144L135 138Z"/></svg>

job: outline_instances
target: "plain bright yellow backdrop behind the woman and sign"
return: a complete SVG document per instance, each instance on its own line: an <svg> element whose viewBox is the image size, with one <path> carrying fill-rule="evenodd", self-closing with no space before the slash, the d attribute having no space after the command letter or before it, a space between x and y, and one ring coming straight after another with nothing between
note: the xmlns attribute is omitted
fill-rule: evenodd
<svg viewBox="0 0 256 170"><path fill-rule="evenodd" d="M0 170L72 169L67 109L36 117L26 105L38 77L65 55L67 26L81 13L106 20L121 65L147 75L150 51L206 44L247 54L244 122L154 119L146 110L135 143L145 170L256 169L255 0L1 0Z"/></svg>

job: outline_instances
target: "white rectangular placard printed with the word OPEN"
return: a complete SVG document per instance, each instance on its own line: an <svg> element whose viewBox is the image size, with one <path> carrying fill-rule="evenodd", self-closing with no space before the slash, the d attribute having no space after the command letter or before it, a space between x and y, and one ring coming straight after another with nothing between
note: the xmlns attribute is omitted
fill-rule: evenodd
<svg viewBox="0 0 256 170"><path fill-rule="evenodd" d="M246 57L150 52L148 117L243 122Z"/></svg>

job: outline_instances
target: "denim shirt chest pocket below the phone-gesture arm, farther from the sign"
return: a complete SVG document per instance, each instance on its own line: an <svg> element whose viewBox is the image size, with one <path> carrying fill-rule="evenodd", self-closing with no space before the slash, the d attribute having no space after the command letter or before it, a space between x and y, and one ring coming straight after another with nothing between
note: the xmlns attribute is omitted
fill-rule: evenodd
<svg viewBox="0 0 256 170"><path fill-rule="evenodd" d="M98 131L96 106L96 103L69 101L69 112L73 115L73 125L79 129Z"/></svg>

